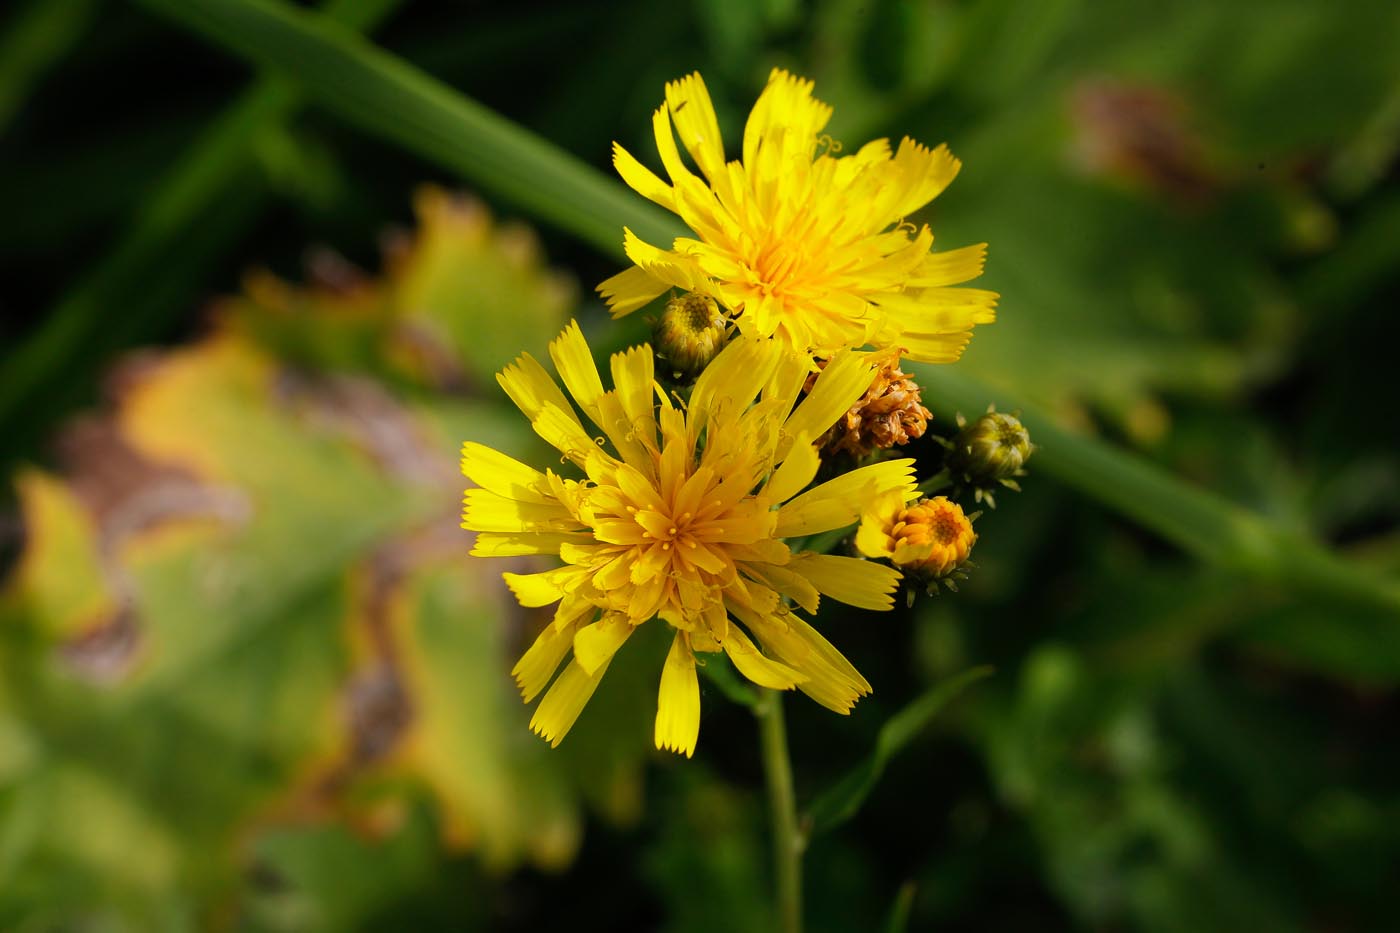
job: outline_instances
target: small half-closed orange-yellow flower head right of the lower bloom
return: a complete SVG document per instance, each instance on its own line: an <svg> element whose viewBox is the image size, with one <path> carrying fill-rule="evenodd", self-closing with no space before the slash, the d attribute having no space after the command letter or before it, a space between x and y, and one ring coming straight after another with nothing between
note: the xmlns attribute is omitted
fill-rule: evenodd
<svg viewBox="0 0 1400 933"><path fill-rule="evenodd" d="M855 548L867 558L885 558L896 567L946 577L960 567L977 542L962 506L938 496L906 504L892 492L867 507L855 532Z"/></svg>

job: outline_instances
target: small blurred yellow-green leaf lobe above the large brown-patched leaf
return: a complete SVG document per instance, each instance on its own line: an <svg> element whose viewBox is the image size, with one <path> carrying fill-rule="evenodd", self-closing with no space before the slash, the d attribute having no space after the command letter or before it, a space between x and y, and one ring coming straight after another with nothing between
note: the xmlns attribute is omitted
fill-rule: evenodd
<svg viewBox="0 0 1400 933"><path fill-rule="evenodd" d="M433 185L413 199L416 233L395 237L384 276L297 287L248 276L225 319L279 357L427 389L493 385L521 350L564 325L577 286L549 270L532 231Z"/></svg>

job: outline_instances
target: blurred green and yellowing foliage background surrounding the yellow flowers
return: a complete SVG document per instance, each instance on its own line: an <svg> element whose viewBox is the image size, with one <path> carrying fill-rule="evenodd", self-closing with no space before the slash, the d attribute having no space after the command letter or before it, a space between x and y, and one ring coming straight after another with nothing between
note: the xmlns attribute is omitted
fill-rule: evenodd
<svg viewBox="0 0 1400 933"><path fill-rule="evenodd" d="M811 929L1394 926L1400 7L25 0L0 927L770 929L752 717L706 681L655 752L648 643L531 735L455 457L538 454L491 373L570 315L644 335L592 293L631 202L458 94L610 175L664 81L734 143L773 66L847 148L963 160L920 219L990 242L1001 318L925 402L1040 443L962 593L819 621L875 693L788 703L799 801L995 672L813 841Z"/></svg>

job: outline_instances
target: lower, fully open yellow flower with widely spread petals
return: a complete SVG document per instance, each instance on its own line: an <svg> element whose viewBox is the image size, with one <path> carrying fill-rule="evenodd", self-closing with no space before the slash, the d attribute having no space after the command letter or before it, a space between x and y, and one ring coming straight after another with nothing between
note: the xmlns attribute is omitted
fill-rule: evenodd
<svg viewBox="0 0 1400 933"><path fill-rule="evenodd" d="M528 353L497 380L535 431L582 471L568 479L466 443L462 527L473 555L556 555L561 567L507 573L521 605L557 604L553 622L515 665L525 702L573 661L540 700L531 728L559 744L613 653L659 616L675 630L661 675L655 741L690 755L700 731L696 651L724 651L750 681L798 688L839 713L869 684L787 607L815 612L820 595L888 609L899 573L858 558L792 553L783 538L841 528L861 504L913 489L913 461L848 472L806 492L813 441L869 387L864 354L836 354L801 403L806 359L771 340L738 338L671 402L650 346L612 357L603 389L577 324L550 345L564 385L603 437ZM610 448L610 450L609 450Z"/></svg>

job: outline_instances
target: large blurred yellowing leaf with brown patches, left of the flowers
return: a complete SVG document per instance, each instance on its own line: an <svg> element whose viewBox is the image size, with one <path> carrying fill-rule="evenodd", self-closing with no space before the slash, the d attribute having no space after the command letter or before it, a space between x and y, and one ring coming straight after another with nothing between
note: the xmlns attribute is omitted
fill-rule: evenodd
<svg viewBox="0 0 1400 933"><path fill-rule="evenodd" d="M526 241L444 210L368 289L413 307L377 312L452 321L514 296L514 322L553 329L564 297ZM459 262L479 275L454 280ZM344 326L336 312L311 324L330 343ZM392 336L358 332L385 359ZM335 813L382 821L406 789L431 793L444 849L501 870L571 862L585 794L640 799L644 741L582 787L529 734L507 675L517 611L497 569L466 556L458 444L522 447L526 422L431 381L409 403L364 370L269 345L225 307L90 419L66 479L21 481L31 534L0 601L0 810L35 815L3 821L15 894L0 926L6 911L195 926L244 870L237 841Z"/></svg>

